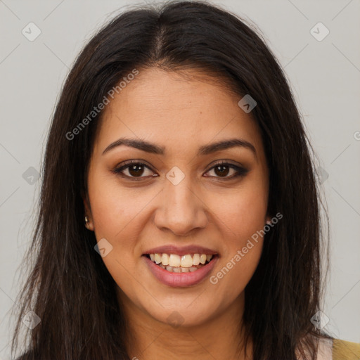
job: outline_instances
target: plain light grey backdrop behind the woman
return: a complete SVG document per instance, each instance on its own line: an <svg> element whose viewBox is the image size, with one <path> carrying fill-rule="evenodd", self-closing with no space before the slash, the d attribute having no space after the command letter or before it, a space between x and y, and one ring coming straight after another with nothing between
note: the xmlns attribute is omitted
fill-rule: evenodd
<svg viewBox="0 0 360 360"><path fill-rule="evenodd" d="M360 1L214 3L262 30L290 80L319 157L316 167L328 203L326 330L360 342ZM134 4L141 3L0 0L0 359L10 354L9 311L22 279L18 267L30 244L39 195L39 181L31 175L40 169L60 88L91 34L119 8ZM22 33L30 22L41 30L34 41ZM321 41L311 34L319 22L330 31ZM325 30L318 27L313 31L323 37Z"/></svg>

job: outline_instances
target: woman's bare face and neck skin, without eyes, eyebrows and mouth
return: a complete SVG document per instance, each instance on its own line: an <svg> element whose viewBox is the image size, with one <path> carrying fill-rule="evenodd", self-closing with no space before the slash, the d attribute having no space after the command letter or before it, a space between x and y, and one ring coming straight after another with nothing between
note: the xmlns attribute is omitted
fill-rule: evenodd
<svg viewBox="0 0 360 360"><path fill-rule="evenodd" d="M84 198L87 227L96 239L113 246L103 262L118 285L117 294L129 319L130 359L245 359L236 353L245 286L255 272L263 239L216 284L209 277L198 285L173 288L160 283L141 255L160 245L203 245L219 254L216 275L270 219L266 214L269 170L262 139L251 113L238 106L240 96L208 82L195 70L179 73L141 70L106 106L98 129ZM127 146L103 150L120 137L143 139L165 147L155 155ZM203 145L244 139L255 147L234 147L196 155ZM125 179L113 169L126 160L145 162L143 173ZM245 167L236 174L221 160ZM176 186L166 174L179 167L184 179ZM158 174L151 177L150 175ZM170 314L181 318L172 326ZM252 359L252 344L249 357ZM135 360L134 359L134 360Z"/></svg>

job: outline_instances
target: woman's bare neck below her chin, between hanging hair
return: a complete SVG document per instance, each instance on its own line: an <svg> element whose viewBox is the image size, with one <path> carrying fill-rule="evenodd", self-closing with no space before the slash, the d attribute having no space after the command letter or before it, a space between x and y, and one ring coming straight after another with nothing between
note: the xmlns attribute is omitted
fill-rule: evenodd
<svg viewBox="0 0 360 360"><path fill-rule="evenodd" d="M195 326L171 326L157 321L135 307L127 297L122 297L122 306L129 319L131 334L127 340L130 359L252 359L251 341L247 349L248 357L241 345L244 304L245 295L241 294L226 311L204 323Z"/></svg>

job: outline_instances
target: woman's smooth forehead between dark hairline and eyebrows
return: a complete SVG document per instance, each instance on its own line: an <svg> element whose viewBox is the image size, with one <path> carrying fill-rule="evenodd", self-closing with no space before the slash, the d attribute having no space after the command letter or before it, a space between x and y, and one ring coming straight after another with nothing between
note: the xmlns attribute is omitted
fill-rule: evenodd
<svg viewBox="0 0 360 360"><path fill-rule="evenodd" d="M98 151L124 136L158 143L168 154L237 136L262 150L255 120L238 106L240 96L195 70L187 75L140 71L103 110Z"/></svg>

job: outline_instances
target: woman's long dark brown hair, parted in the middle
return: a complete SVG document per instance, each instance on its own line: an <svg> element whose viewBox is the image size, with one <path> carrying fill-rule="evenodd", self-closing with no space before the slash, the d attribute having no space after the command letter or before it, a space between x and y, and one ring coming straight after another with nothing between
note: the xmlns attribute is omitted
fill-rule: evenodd
<svg viewBox="0 0 360 360"><path fill-rule="evenodd" d="M83 196L101 113L79 133L66 134L134 68L197 68L239 96L257 101L252 117L269 165L269 214L283 219L266 233L259 266L245 288L244 323L254 360L295 360L304 341L312 359L328 335L311 317L321 308L321 221L311 146L288 81L255 26L203 1L169 1L117 15L77 57L51 122L41 169L39 214L30 276L18 297L22 319L41 323L27 333L23 360L127 359L127 321L115 281L84 227ZM313 335L313 336L309 336ZM240 341L240 336L239 336Z"/></svg>

